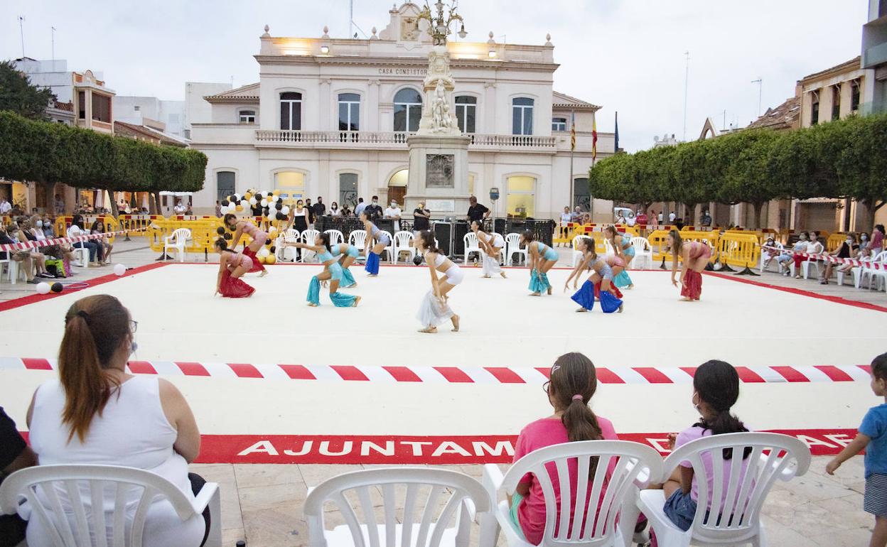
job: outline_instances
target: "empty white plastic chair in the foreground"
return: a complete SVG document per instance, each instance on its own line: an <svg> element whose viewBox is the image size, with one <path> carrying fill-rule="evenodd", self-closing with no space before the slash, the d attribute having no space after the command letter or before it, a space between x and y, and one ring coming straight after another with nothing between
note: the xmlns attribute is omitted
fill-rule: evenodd
<svg viewBox="0 0 887 547"><path fill-rule="evenodd" d="M380 493L381 522L371 498ZM403 517L396 510L398 497L403 500ZM325 504L333 504L345 524L327 530ZM343 473L324 481L309 490L303 511L310 547L468 547L475 514L482 525L479 543L492 544L485 537L492 532L491 508L487 492L465 474L398 466ZM455 525L448 527L454 516Z"/></svg>

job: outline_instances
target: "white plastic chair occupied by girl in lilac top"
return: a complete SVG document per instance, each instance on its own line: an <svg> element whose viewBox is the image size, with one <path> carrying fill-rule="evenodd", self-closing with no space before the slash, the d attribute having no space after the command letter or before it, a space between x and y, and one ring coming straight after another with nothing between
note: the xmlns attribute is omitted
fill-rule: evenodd
<svg viewBox="0 0 887 547"><path fill-rule="evenodd" d="M747 448L750 454L743 460ZM733 457L724 459L721 456L723 449L732 449ZM709 478L703 455L712 464L712 492L705 487ZM760 512L767 493L776 479L790 481L807 473L810 449L795 437L782 434L711 435L687 442L665 458L658 482L667 480L680 462L687 460L693 465L694 480L702 486L693 525L686 532L665 516L663 490L642 490L638 497L638 506L647 515L659 545L687 547L692 542L694 545L752 543L763 546L766 536ZM743 461L746 462L745 473L742 473ZM726 473L730 478L725 492L723 477Z"/></svg>

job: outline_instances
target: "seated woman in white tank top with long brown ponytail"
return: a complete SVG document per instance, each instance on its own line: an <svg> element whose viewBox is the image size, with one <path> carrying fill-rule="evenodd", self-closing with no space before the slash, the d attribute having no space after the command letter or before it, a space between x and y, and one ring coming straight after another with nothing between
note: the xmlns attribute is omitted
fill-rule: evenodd
<svg viewBox="0 0 887 547"><path fill-rule="evenodd" d="M67 310L59 379L38 387L27 410L31 447L40 465L136 467L171 481L192 498L205 482L188 473L188 464L200 452L200 431L175 386L155 375L127 372L127 360L136 350L136 327L130 312L107 294L82 298ZM82 494L90 496L88 490ZM122 495L134 507L141 491L130 488ZM106 488L105 496L114 499L114 488ZM67 513L50 517L76 518ZM110 513L106 522L112 522ZM207 532L208 512L182 522L168 501L156 499L148 510L144 544L198 547ZM103 533L112 543L111 530ZM29 522L27 544L55 545L42 520Z"/></svg>

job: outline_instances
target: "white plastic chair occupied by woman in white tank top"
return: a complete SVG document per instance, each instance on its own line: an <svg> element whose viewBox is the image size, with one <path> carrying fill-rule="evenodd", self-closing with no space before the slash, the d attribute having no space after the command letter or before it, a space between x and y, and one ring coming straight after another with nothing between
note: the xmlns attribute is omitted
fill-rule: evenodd
<svg viewBox="0 0 887 547"><path fill-rule="evenodd" d="M133 495L128 490L135 490L136 495L141 493L136 504L127 504ZM21 469L0 486L0 512L16 512L20 502L27 500L31 520L39 519L54 536L54 543L62 547L92 545L90 533L96 536L95 544L99 546L141 547L148 510L156 497L165 498L183 522L200 520L201 530L201 513L209 507L206 545L222 546L218 484L207 482L192 501L160 475L132 467L37 465ZM92 511L93 507L103 506L105 511ZM97 534L99 530L106 532ZM111 541L107 541L107 535Z"/></svg>

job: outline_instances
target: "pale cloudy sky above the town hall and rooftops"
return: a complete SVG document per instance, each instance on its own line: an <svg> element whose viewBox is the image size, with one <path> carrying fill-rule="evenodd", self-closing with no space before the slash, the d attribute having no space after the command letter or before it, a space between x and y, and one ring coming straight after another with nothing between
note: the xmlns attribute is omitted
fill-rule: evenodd
<svg viewBox="0 0 887 547"><path fill-rule="evenodd" d="M392 0L354 0L367 34L384 27ZM84 8L84 6L86 6ZM271 35L348 35L348 0L60 0L0 2L0 59L25 54L68 69L104 72L119 95L183 99L184 82L256 82L262 28ZM718 129L747 125L794 94L805 74L860 54L867 0L461 0L468 41L545 43L551 33L554 89L602 105L598 129L613 129L635 151L654 135L684 131L684 81L690 53L687 137L706 117ZM503 35L505 37L503 38Z"/></svg>

